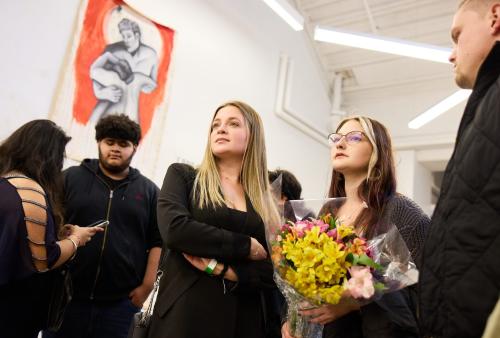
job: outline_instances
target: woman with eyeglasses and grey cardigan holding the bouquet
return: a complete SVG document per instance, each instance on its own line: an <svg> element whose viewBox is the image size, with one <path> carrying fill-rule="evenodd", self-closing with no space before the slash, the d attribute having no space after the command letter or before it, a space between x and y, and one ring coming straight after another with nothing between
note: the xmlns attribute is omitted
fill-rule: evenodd
<svg viewBox="0 0 500 338"><path fill-rule="evenodd" d="M348 117L328 140L333 166L329 197L347 197L337 217L353 224L367 239L383 233L387 224L396 225L418 267L430 220L418 205L396 192L387 129L368 117ZM418 337L415 291L411 286L364 306L346 299L301 314L325 325L323 337L327 338ZM288 323L282 336L292 337Z"/></svg>

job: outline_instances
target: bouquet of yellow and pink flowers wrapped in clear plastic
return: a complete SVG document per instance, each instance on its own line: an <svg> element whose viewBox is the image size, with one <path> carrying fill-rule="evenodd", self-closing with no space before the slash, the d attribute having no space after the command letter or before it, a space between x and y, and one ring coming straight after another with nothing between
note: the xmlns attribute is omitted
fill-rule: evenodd
<svg viewBox="0 0 500 338"><path fill-rule="evenodd" d="M321 337L322 333L321 325L299 315L301 309L338 304L345 298L364 304L418 279L397 228L392 226L367 241L328 212L344 201L290 201L285 205L283 224L268 229L275 280L287 299L288 321L295 337Z"/></svg>

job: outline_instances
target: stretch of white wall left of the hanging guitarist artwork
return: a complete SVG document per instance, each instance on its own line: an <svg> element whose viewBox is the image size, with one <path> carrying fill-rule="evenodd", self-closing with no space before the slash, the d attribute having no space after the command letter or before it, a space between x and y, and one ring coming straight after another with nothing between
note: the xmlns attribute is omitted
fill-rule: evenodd
<svg viewBox="0 0 500 338"><path fill-rule="evenodd" d="M76 19L78 1L20 0L0 5L0 139L23 123L47 118Z"/></svg>

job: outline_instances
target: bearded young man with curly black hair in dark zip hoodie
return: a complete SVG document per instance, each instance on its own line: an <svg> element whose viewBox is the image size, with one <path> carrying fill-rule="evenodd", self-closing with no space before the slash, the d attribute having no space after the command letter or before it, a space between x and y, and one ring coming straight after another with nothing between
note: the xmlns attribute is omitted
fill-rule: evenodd
<svg viewBox="0 0 500 338"><path fill-rule="evenodd" d="M158 187L130 167L140 135L127 116L108 115L96 125L99 160L65 172L66 222L109 225L78 250L73 301L56 337L125 338L152 290L161 251Z"/></svg>

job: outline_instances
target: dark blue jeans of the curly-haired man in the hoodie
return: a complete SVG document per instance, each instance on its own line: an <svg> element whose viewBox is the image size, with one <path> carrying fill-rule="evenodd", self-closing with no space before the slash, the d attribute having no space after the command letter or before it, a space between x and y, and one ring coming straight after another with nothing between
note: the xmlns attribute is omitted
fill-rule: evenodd
<svg viewBox="0 0 500 338"><path fill-rule="evenodd" d="M56 333L43 338L127 338L130 323L139 308L130 299L118 301L71 301Z"/></svg>

